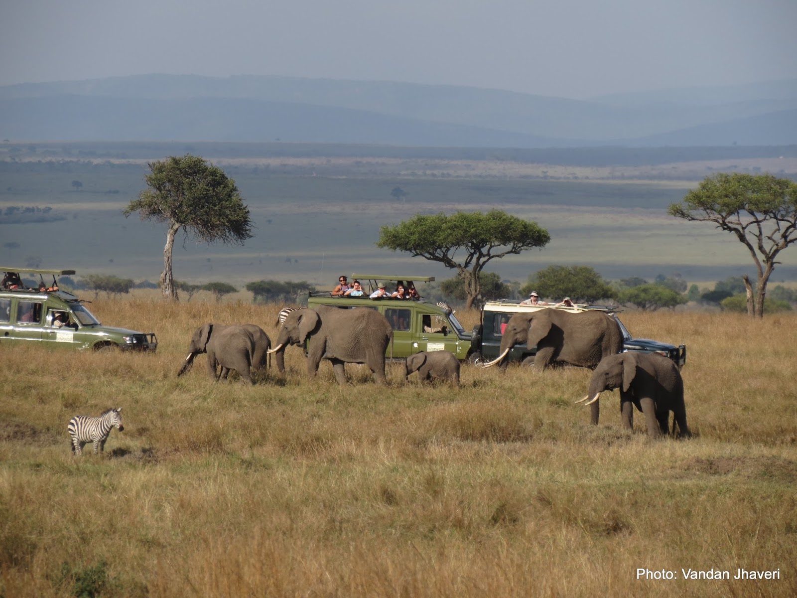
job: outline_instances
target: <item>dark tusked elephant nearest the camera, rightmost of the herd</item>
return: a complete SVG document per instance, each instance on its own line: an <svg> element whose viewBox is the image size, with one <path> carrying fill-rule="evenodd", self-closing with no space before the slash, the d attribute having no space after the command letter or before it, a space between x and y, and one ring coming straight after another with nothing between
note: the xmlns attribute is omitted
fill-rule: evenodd
<svg viewBox="0 0 797 598"><path fill-rule="evenodd" d="M645 414L648 435L659 438L669 434L667 416L673 411L681 436L689 437L684 405L684 381L673 360L658 353L625 352L608 355L600 360L592 374L589 393L576 403L591 399L587 405L598 404L603 391L620 389L620 412L623 427L634 427L634 407ZM592 411L592 423L598 423L598 410Z"/></svg>

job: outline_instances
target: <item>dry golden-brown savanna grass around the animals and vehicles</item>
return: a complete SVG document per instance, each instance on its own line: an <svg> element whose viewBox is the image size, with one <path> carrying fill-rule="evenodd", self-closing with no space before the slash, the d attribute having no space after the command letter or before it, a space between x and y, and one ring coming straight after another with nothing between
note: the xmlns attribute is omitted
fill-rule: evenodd
<svg viewBox="0 0 797 598"><path fill-rule="evenodd" d="M289 348L286 376L214 384L202 356L175 377L190 332L274 337L276 306L91 308L159 349L0 343L0 596L797 595L795 316L624 313L636 336L688 345L695 437L650 442L640 416L622 430L617 393L589 425L579 368L463 366L451 388L349 366L340 387ZM124 432L74 458L69 418L112 406Z"/></svg>

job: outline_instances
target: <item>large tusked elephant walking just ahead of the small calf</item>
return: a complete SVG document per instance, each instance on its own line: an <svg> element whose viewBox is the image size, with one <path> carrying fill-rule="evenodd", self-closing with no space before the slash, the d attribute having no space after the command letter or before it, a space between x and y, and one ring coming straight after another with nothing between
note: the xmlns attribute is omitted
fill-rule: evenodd
<svg viewBox="0 0 797 598"><path fill-rule="evenodd" d="M316 376L322 359L332 361L339 384L346 384L344 364L366 364L379 384L385 384L385 352L393 340L390 322L375 309L341 309L320 305L317 309L296 309L280 329L277 368L284 371L285 346L304 344L309 339L307 372Z"/></svg>

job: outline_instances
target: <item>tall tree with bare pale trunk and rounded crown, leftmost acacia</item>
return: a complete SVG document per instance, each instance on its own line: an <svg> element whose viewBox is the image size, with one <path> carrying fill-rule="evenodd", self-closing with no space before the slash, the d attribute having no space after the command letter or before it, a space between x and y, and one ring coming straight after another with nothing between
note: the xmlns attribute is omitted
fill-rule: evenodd
<svg viewBox="0 0 797 598"><path fill-rule="evenodd" d="M243 244L252 237L249 208L243 203L234 180L196 155L172 155L147 166L150 174L144 179L148 188L125 208L124 215L138 212L142 220L167 222L160 288L164 297L177 301L171 274L177 231L182 228L186 237L192 233L206 243Z"/></svg>

